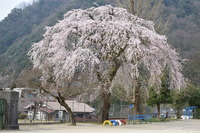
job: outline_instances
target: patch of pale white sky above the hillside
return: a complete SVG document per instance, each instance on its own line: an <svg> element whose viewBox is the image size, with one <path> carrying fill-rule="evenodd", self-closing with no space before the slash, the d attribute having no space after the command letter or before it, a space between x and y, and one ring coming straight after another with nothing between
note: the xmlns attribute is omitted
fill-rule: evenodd
<svg viewBox="0 0 200 133"><path fill-rule="evenodd" d="M31 0L0 0L0 21L4 19L13 8L22 2L30 2Z"/></svg>

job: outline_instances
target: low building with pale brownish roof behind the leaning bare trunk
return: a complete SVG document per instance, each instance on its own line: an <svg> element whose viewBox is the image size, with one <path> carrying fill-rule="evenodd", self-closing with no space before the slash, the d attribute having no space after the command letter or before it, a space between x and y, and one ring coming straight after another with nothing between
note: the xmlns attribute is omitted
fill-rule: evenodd
<svg viewBox="0 0 200 133"><path fill-rule="evenodd" d="M78 119L93 119L95 117L95 109L88 104L66 100L68 106L72 109L75 118ZM44 120L44 121L67 121L68 112L57 101L31 103L24 107L27 110L29 119ZM34 116L35 112L35 116Z"/></svg>

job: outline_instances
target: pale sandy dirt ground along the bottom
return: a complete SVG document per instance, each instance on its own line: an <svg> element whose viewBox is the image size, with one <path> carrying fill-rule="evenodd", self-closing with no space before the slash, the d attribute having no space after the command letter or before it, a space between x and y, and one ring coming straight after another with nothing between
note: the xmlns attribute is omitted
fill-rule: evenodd
<svg viewBox="0 0 200 133"><path fill-rule="evenodd" d="M21 125L19 131L1 133L200 133L200 120L148 123L123 126L82 124Z"/></svg>

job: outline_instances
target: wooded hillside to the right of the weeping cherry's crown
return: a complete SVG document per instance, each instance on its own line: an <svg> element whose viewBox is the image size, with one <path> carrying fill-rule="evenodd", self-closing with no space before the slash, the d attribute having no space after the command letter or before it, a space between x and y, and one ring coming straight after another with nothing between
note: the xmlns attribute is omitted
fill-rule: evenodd
<svg viewBox="0 0 200 133"><path fill-rule="evenodd" d="M184 75L200 86L200 1L164 0L165 13L171 15L171 26L167 33L168 42L182 58L188 59Z"/></svg>

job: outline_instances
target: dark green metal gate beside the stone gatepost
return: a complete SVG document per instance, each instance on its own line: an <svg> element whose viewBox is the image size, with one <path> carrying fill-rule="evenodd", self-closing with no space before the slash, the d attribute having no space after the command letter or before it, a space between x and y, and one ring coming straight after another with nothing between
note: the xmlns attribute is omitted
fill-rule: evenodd
<svg viewBox="0 0 200 133"><path fill-rule="evenodd" d="M6 100L0 99L0 130L4 128L6 117Z"/></svg>

